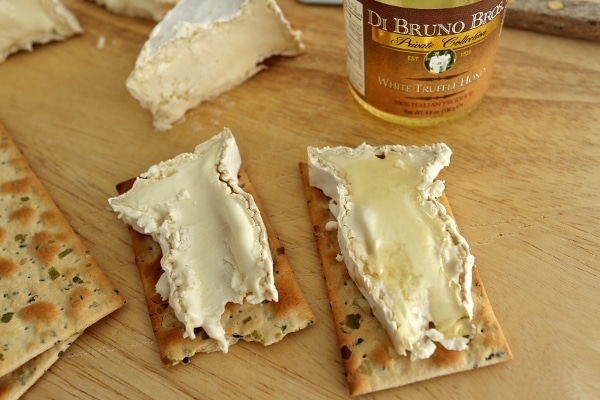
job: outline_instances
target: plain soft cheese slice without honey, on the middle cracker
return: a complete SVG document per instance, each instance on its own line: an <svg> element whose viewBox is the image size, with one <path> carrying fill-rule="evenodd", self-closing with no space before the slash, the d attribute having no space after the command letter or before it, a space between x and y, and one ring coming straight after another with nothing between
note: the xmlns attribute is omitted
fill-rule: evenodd
<svg viewBox="0 0 600 400"><path fill-rule="evenodd" d="M162 249L156 290L185 325L202 327L227 352L221 315L228 302L277 301L266 229L251 195L238 185L241 158L228 129L193 153L150 167L109 204L119 218Z"/></svg>

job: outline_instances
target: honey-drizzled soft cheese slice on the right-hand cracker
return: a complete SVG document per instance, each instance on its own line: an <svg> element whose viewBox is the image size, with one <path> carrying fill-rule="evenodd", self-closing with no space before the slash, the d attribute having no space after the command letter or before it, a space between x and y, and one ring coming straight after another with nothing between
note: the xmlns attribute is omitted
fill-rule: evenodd
<svg viewBox="0 0 600 400"><path fill-rule="evenodd" d="M445 144L308 148L311 186L332 200L352 279L398 354L428 358L434 342L464 350L473 256L436 198L450 163Z"/></svg>

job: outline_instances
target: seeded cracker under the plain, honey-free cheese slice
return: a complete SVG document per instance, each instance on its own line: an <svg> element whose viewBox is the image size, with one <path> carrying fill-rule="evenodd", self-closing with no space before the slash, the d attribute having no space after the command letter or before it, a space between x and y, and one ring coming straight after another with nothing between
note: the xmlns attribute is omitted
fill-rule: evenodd
<svg viewBox="0 0 600 400"><path fill-rule="evenodd" d="M254 305L246 302L228 303L221 317L221 323L225 328L225 337L229 345L237 343L240 339L270 345L279 342L292 332L312 325L315 317L300 291L285 249L266 218L256 191L243 168L240 168L238 179L244 191L254 197L267 229L279 301ZM117 191L120 194L125 193L133 182L134 179L120 183L117 185ZM160 246L148 235L143 235L131 227L129 231L135 263L143 282L150 322L163 366L187 363L196 353L219 351L216 340L209 338L202 328L197 329L195 339L183 337L184 325L175 316L168 300L163 301L156 293L156 282L163 273L160 266L162 257Z"/></svg>

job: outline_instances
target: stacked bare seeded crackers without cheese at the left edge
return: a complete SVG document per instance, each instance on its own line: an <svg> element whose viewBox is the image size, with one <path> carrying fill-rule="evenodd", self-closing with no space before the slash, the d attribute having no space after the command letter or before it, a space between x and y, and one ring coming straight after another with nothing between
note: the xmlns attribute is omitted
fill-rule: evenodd
<svg viewBox="0 0 600 400"><path fill-rule="evenodd" d="M124 302L0 124L0 397Z"/></svg>

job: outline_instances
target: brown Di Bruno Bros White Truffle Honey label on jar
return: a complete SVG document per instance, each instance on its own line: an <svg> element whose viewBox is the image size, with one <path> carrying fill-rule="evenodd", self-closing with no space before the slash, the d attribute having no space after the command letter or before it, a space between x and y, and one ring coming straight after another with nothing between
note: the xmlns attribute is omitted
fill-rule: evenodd
<svg viewBox="0 0 600 400"><path fill-rule="evenodd" d="M414 9L345 0L348 79L370 106L439 118L474 106L489 85L506 0Z"/></svg>

